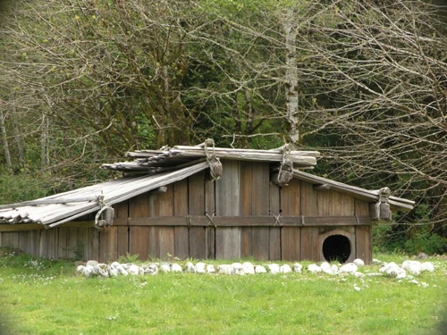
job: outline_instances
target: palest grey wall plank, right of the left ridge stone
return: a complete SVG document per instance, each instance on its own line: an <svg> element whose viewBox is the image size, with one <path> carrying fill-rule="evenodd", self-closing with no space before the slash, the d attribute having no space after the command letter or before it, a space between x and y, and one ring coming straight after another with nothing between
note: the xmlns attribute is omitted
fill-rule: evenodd
<svg viewBox="0 0 447 335"><path fill-rule="evenodd" d="M223 176L215 180L215 213L218 216L240 215L239 161L223 160ZM218 227L215 231L215 257L240 258L240 227Z"/></svg>

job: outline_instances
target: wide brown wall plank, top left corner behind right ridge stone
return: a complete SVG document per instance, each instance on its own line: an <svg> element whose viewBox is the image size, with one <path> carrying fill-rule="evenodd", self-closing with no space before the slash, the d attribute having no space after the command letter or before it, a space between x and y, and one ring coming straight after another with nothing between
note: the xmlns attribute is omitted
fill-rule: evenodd
<svg viewBox="0 0 447 335"><path fill-rule="evenodd" d="M299 216L300 209L300 183L292 179L289 186L281 188L281 214L284 216ZM281 228L281 258L284 261L300 259L300 228Z"/></svg>

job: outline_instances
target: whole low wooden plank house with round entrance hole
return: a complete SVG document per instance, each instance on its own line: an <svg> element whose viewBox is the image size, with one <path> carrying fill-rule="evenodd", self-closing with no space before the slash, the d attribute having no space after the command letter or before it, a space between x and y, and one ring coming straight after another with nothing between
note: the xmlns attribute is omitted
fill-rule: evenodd
<svg viewBox="0 0 447 335"><path fill-rule="evenodd" d="M317 152L173 147L105 164L124 177L0 205L0 246L34 256L372 261L372 222L412 201L302 172Z"/></svg>

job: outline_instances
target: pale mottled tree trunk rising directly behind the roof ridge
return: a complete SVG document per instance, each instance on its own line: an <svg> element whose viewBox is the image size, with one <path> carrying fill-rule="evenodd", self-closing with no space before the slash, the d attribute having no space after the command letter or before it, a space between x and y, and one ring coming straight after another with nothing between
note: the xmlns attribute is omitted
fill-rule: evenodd
<svg viewBox="0 0 447 335"><path fill-rule="evenodd" d="M299 141L298 129L298 69L297 69L297 29L293 24L293 10L289 9L283 21L286 54L286 120L289 123L289 139L292 144Z"/></svg>

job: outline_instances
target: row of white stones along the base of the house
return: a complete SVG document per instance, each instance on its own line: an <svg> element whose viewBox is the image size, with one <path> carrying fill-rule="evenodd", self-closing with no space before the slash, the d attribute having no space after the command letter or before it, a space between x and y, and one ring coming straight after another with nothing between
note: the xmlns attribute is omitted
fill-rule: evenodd
<svg viewBox="0 0 447 335"><path fill-rule="evenodd" d="M375 264L382 264L382 268L379 273L367 273L367 276L381 276L388 275L390 277L397 277L398 279L402 279L406 277L406 270L409 271L412 275L419 275L424 271L434 271L434 266L430 262L426 262L421 264L417 261L405 261L402 264L402 267L399 267L395 263L386 264L384 262L380 262L375 260ZM339 264L341 265L341 264ZM356 277L365 276L364 273L358 272L358 267L364 265L364 262L361 259L354 260L353 263L344 264L339 267L336 264L329 264L327 262L323 262L320 265L317 264L309 264L308 272L318 273L324 272L326 274L338 275L338 274L353 274ZM255 273L290 273L297 272L300 273L303 270L303 266L299 263L292 265L293 269L289 264L266 264L264 265L253 265L249 262L244 264L233 263L233 264L222 264L217 265L217 270L213 264L205 264L202 262L198 262L197 264L187 263L185 264L184 272L189 273L220 273L220 274L255 274ZM80 265L76 269L78 273L86 276L86 277L116 277L118 274L127 276L131 275L156 275L158 272L183 272L180 264L169 264L169 263L153 263L153 264L145 264L145 265L136 265L136 264L119 264L118 262L114 262L113 264L98 264L97 261L89 261L86 266Z"/></svg>

